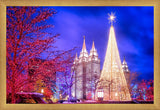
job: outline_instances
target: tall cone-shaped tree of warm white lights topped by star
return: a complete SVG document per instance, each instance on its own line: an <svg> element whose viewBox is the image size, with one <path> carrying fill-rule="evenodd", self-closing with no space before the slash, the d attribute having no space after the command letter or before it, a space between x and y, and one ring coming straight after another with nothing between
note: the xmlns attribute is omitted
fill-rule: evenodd
<svg viewBox="0 0 160 110"><path fill-rule="evenodd" d="M96 99L130 101L130 93L122 70L113 27L114 15L110 15L111 27L103 69L97 85Z"/></svg>

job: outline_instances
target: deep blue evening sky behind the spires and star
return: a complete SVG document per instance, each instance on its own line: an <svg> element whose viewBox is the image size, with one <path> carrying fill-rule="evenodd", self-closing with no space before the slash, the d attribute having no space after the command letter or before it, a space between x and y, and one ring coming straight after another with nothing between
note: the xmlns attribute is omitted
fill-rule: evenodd
<svg viewBox="0 0 160 110"><path fill-rule="evenodd" d="M140 79L153 79L153 7L52 7L57 14L48 23L54 24L53 33L60 34L56 45L61 50L79 47L86 36L88 52L92 41L103 66L110 24L108 13L115 13L114 23L121 61L125 56L131 72L141 73Z"/></svg>

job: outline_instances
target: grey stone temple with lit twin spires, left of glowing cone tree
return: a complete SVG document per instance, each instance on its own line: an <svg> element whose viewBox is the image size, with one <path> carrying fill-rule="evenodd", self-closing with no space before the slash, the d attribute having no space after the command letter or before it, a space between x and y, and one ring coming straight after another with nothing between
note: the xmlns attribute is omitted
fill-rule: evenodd
<svg viewBox="0 0 160 110"><path fill-rule="evenodd" d="M77 99L94 99L96 82L100 77L100 59L95 49L94 41L90 54L88 54L83 41L82 51L79 58L75 57L72 72L74 75L74 84L72 86L72 95Z"/></svg>

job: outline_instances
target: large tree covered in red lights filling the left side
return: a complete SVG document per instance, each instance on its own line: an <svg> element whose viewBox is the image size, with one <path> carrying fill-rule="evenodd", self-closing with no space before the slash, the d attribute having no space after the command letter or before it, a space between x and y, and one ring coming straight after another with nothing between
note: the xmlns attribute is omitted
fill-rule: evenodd
<svg viewBox="0 0 160 110"><path fill-rule="evenodd" d="M17 92L33 89L36 80L47 82L46 77L53 78L56 71L65 70L61 65L67 62L61 58L67 52L56 49L58 35L47 30L54 27L47 24L47 19L55 13L52 8L7 7L7 98L11 94L11 103L16 102ZM29 62L42 54L45 61L32 70L29 78Z"/></svg>

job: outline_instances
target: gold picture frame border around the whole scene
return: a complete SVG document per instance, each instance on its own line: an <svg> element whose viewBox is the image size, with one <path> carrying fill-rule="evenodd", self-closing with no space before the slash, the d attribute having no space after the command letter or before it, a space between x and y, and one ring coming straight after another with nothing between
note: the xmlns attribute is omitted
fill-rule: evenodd
<svg viewBox="0 0 160 110"><path fill-rule="evenodd" d="M6 104L6 6L153 6L154 7L154 104ZM0 0L0 109L99 110L160 108L160 1L159 0Z"/></svg>

